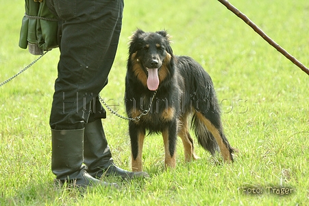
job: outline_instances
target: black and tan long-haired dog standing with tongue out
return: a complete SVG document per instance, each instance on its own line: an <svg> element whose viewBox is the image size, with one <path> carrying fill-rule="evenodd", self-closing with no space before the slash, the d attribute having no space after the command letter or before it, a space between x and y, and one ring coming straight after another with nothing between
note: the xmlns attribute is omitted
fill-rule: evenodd
<svg viewBox="0 0 309 206"><path fill-rule="evenodd" d="M210 153L221 151L232 162L234 149L223 134L220 110L208 73L188 56L174 56L166 31L137 30L129 42L125 108L132 146L132 170L142 171L146 132L162 133L165 165L175 168L177 135L186 161L197 159L188 117L199 144ZM138 121L139 120L139 121Z"/></svg>

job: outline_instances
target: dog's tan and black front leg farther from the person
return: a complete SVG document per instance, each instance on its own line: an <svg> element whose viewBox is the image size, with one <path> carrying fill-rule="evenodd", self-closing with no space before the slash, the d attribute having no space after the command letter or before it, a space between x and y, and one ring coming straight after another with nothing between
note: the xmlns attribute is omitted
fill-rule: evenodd
<svg viewBox="0 0 309 206"><path fill-rule="evenodd" d="M163 141L164 141L164 152L165 152L165 168L175 168L176 167L176 141L177 141L177 125L173 124L169 128L162 131Z"/></svg>

